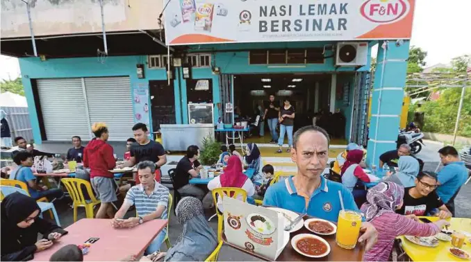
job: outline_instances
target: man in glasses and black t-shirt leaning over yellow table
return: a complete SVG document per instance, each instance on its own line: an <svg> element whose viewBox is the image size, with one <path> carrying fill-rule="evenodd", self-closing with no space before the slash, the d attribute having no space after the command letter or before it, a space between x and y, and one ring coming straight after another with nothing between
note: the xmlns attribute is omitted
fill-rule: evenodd
<svg viewBox="0 0 471 262"><path fill-rule="evenodd" d="M452 217L443 201L437 195L437 175L429 171L418 174L415 186L404 189L404 202L396 213L416 218L416 216L429 216L429 213L438 209L434 215L440 219Z"/></svg>

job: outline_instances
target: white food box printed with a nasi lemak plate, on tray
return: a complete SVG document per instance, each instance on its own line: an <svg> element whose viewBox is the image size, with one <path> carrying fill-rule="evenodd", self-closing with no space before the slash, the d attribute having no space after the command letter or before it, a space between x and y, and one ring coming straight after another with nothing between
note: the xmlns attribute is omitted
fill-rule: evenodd
<svg viewBox="0 0 471 262"><path fill-rule="evenodd" d="M242 250L276 260L288 243L283 216L233 198L224 198L224 234L227 243Z"/></svg>

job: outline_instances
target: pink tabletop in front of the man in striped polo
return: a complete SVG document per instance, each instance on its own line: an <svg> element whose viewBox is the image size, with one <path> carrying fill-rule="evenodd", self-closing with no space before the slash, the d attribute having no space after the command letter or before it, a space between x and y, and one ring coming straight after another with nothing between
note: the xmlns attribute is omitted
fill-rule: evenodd
<svg viewBox="0 0 471 262"><path fill-rule="evenodd" d="M144 252L152 240L167 225L167 220L155 219L129 229L111 227L110 219L83 218L67 227L69 232L48 250L35 253L33 261L49 261L52 254L65 245L82 245L89 238L100 238L91 244L83 261L121 261Z"/></svg>

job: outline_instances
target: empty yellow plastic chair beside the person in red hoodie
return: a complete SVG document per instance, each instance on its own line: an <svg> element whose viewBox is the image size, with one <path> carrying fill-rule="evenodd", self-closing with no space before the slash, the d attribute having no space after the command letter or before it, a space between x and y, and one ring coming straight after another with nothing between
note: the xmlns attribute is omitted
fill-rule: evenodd
<svg viewBox="0 0 471 262"><path fill-rule="evenodd" d="M80 178L63 178L61 181L74 201L74 222L77 221L78 207L85 207L87 218L93 218L93 207L101 203L101 201L95 198L90 182L87 180L81 180ZM87 193L90 195L90 200L85 200L83 197L82 185L87 189Z"/></svg>

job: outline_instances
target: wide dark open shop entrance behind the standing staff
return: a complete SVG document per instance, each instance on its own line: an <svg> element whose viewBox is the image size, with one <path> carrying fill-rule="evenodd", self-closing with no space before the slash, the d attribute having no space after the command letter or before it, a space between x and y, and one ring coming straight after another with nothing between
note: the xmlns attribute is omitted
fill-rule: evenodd
<svg viewBox="0 0 471 262"><path fill-rule="evenodd" d="M242 118L255 119L268 107L268 98L273 94L276 104L283 105L288 99L295 107L296 117L294 130L305 125L316 124L326 129L331 137L345 143L345 115L332 114L331 108L331 74L330 73L271 73L234 75L234 108L235 114ZM335 101L335 100L334 100ZM258 130L251 132L254 142L268 143L271 140L268 126L264 126L265 135L259 137Z"/></svg>

